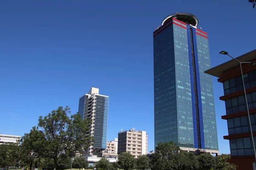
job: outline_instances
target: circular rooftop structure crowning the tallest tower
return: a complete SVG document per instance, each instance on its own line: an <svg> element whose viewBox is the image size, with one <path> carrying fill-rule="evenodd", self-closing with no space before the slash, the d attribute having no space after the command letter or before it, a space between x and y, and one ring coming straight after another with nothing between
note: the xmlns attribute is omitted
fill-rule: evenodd
<svg viewBox="0 0 256 170"><path fill-rule="evenodd" d="M177 12L175 14L171 14L168 17L166 17L162 22L162 26L166 22L171 20L172 18L175 18L176 20L180 20L180 21L182 21L184 23L187 23L187 24L191 24L192 26L198 26L198 18L195 15L189 14L189 13L180 13L180 12Z"/></svg>

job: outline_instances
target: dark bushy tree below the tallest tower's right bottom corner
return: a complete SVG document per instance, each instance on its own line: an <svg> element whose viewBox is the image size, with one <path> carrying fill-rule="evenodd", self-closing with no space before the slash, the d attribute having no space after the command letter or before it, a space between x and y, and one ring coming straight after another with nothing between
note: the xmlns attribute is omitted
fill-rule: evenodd
<svg viewBox="0 0 256 170"><path fill-rule="evenodd" d="M197 156L197 159L199 161L200 170L212 170L216 167L215 157L209 153L203 153Z"/></svg>

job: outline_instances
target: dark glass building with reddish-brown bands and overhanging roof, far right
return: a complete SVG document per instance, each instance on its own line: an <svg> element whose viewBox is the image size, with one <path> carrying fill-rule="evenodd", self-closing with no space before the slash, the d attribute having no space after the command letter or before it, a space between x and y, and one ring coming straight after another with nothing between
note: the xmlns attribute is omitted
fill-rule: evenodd
<svg viewBox="0 0 256 170"><path fill-rule="evenodd" d="M239 62L256 62L256 50L236 59ZM223 83L224 96L221 96L220 100L225 101L226 113L224 111L221 119L227 120L228 135L224 136L224 139L230 142L229 162L238 165L237 170L253 170L255 159L239 62L233 59L205 73L218 77L218 82ZM253 140L256 144L256 65L242 64L242 71Z"/></svg>

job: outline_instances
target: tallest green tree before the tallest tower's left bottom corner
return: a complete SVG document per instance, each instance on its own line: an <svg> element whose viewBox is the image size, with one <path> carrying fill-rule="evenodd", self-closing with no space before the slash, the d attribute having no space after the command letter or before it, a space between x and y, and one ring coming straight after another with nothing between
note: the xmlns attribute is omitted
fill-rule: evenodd
<svg viewBox="0 0 256 170"><path fill-rule="evenodd" d="M158 143L156 147L156 153L152 154L151 170L175 170L178 167L177 154L181 153L180 147L177 147L175 143L166 142ZM175 162L176 161L176 162Z"/></svg>

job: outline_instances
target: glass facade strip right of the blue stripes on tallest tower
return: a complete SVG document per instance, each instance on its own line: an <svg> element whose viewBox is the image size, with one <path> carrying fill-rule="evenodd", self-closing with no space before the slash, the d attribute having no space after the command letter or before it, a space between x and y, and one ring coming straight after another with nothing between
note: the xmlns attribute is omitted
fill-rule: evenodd
<svg viewBox="0 0 256 170"><path fill-rule="evenodd" d="M200 33L202 34L202 33ZM215 117L215 106L212 88L212 77L204 71L211 68L208 38L196 34L200 91L204 130L205 149L218 150L218 136Z"/></svg>

